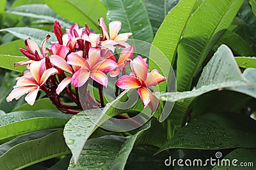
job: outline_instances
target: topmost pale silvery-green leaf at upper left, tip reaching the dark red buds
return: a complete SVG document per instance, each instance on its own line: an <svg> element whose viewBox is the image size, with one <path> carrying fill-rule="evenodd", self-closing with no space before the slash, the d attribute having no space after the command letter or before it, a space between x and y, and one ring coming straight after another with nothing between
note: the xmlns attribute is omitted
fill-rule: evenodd
<svg viewBox="0 0 256 170"><path fill-rule="evenodd" d="M6 11L6 13L12 13L25 17L33 17L42 20L49 20L51 22L58 20L58 22L60 22L63 27L70 27L72 25L72 23L68 20L65 20L64 18L58 16L46 4L24 4L22 6L12 8L11 10Z"/></svg>

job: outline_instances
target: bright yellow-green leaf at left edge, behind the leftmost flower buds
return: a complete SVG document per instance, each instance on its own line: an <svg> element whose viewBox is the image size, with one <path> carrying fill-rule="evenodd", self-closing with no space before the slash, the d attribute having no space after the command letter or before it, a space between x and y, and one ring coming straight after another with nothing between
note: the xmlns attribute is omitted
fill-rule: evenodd
<svg viewBox="0 0 256 170"><path fill-rule="evenodd" d="M22 53L19 48L24 46L24 41L19 39L0 46L0 67L5 69L12 69L14 71L22 72L26 69L26 66L14 67L14 62L20 62L26 60L26 57L22 57Z"/></svg>

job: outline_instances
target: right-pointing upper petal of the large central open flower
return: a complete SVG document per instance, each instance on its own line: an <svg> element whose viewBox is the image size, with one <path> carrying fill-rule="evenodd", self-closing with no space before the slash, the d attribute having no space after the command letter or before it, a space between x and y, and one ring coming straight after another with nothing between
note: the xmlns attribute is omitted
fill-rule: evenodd
<svg viewBox="0 0 256 170"><path fill-rule="evenodd" d="M102 71L104 73L108 73L109 71L117 68L118 65L116 64L115 61L110 60L110 59L106 59L106 60L102 60L100 62L98 62L98 64L96 64L94 67L92 67L92 71Z"/></svg>

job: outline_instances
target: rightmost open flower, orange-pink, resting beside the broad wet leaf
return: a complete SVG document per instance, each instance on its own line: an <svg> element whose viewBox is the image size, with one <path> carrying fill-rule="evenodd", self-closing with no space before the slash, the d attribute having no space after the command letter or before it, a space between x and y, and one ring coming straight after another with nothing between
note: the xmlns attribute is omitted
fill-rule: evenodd
<svg viewBox="0 0 256 170"><path fill-rule="evenodd" d="M124 90L138 89L138 94L143 101L144 108L148 105L152 112L156 111L159 100L152 94L148 87L157 85L166 80L166 78L159 74L157 69L153 69L148 73L147 62L139 55L130 62L130 66L132 73L118 78L116 85Z"/></svg>

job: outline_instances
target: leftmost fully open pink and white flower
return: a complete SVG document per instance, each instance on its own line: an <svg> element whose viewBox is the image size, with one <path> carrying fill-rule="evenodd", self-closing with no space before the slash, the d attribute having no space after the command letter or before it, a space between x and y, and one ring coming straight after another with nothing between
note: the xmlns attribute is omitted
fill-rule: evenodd
<svg viewBox="0 0 256 170"><path fill-rule="evenodd" d="M35 61L30 64L30 73L26 73L24 76L17 79L17 84L13 87L12 92L6 98L6 101L10 102L13 99L19 99L24 94L29 93L25 97L25 101L28 104L33 105L38 94L38 90L41 89L45 81L52 74L58 73L57 69L50 68L45 69L45 59Z"/></svg>

